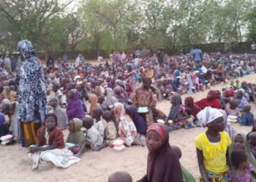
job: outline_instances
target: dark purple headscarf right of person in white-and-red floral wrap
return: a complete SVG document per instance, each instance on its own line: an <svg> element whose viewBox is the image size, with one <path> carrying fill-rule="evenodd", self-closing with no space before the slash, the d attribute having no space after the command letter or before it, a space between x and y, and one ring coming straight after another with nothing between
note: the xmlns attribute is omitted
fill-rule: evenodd
<svg viewBox="0 0 256 182"><path fill-rule="evenodd" d="M130 115L132 115L132 122L134 122L135 127L137 128L137 132L141 135L146 135L147 127L143 116L138 114L138 111L134 106L127 106L125 109L129 112Z"/></svg>

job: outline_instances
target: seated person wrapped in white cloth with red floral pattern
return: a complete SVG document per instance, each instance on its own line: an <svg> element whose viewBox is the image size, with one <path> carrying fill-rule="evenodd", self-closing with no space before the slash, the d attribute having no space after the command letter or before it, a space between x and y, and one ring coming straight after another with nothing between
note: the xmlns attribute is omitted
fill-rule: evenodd
<svg viewBox="0 0 256 182"><path fill-rule="evenodd" d="M115 103L113 113L118 122L118 135L127 146L143 146L139 141L140 134L137 133L135 124L132 119L125 114L124 105L122 103Z"/></svg>

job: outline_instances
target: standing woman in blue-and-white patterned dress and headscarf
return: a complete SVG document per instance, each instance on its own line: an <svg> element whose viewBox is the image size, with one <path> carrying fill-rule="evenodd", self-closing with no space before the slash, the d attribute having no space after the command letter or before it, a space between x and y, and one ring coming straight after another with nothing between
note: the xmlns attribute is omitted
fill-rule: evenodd
<svg viewBox="0 0 256 182"><path fill-rule="evenodd" d="M30 41L20 41L17 50L26 59L20 68L18 118L22 146L29 147L37 143L37 130L45 122L48 110L45 75Z"/></svg>

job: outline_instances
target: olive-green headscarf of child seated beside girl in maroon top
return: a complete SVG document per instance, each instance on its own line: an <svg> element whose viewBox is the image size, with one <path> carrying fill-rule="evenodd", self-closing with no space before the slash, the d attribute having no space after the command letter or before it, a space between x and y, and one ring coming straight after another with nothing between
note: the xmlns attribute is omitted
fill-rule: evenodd
<svg viewBox="0 0 256 182"><path fill-rule="evenodd" d="M78 146L82 146L83 141L86 141L86 137L83 135L83 131L80 130L83 127L83 122L78 118L74 118L72 120L74 122L75 131L69 132L66 143L74 143Z"/></svg>

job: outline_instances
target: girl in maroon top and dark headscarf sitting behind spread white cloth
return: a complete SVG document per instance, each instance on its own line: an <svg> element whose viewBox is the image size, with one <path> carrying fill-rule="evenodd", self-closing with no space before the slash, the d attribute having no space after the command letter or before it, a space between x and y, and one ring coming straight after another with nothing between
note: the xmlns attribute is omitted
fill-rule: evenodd
<svg viewBox="0 0 256 182"><path fill-rule="evenodd" d="M29 153L34 154L36 151L64 149L64 135L61 129L56 126L57 117L55 114L45 116L45 127L41 127L37 130L37 144L29 146Z"/></svg>

